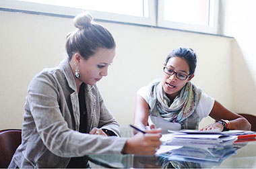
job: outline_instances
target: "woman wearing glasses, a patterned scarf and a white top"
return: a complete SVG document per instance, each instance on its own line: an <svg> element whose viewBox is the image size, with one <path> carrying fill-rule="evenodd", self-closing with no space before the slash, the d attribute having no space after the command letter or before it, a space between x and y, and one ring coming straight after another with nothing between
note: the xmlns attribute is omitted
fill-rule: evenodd
<svg viewBox="0 0 256 169"><path fill-rule="evenodd" d="M210 115L218 122L201 130L251 129L247 119L226 109L190 82L196 64L197 56L188 48L177 48L168 55L162 79L137 92L134 120L137 127L161 127L162 133L168 129L198 129L201 119Z"/></svg>

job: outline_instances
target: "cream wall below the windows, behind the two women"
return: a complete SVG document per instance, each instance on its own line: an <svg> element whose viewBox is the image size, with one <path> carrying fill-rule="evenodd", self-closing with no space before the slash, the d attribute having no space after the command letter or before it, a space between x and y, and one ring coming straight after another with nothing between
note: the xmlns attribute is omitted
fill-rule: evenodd
<svg viewBox="0 0 256 169"><path fill-rule="evenodd" d="M57 66L63 59L65 36L74 30L73 21L0 11L0 23L0 129L21 128L28 84L42 68ZM234 108L230 89L232 38L119 23L102 25L113 33L117 55L108 77L98 86L122 125L133 123L139 87L162 76L166 56L179 46L197 52L193 82L229 109Z"/></svg>

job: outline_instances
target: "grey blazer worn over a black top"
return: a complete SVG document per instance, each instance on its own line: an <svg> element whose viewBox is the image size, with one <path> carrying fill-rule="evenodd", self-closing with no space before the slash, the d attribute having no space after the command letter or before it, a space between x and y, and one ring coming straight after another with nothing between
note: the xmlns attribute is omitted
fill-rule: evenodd
<svg viewBox="0 0 256 169"><path fill-rule="evenodd" d="M96 85L85 87L88 131L110 129L120 136ZM79 133L79 101L68 59L37 74L24 105L22 144L9 168L65 168L71 157L121 153L127 138Z"/></svg>

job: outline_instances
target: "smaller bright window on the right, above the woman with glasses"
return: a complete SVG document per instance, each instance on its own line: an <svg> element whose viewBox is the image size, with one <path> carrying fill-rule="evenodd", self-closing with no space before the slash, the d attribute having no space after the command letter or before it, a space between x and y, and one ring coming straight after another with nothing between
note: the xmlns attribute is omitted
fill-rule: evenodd
<svg viewBox="0 0 256 169"><path fill-rule="evenodd" d="M218 33L218 0L158 0L158 26Z"/></svg>

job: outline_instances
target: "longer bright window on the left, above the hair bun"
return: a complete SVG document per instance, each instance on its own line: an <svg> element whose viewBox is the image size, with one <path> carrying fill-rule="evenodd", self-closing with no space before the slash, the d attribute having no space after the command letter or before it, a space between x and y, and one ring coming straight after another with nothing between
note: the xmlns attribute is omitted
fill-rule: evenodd
<svg viewBox="0 0 256 169"><path fill-rule="evenodd" d="M67 16L88 11L95 19L156 25L154 0L0 0L0 8Z"/></svg>

